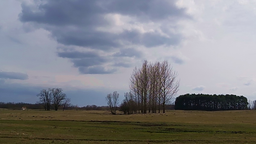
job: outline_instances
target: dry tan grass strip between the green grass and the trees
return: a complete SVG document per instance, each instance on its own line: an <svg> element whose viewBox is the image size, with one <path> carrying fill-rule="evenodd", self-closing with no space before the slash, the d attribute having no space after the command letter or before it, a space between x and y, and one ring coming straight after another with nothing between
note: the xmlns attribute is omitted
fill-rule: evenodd
<svg viewBox="0 0 256 144"><path fill-rule="evenodd" d="M119 112L121 114L121 112ZM140 121L197 124L256 124L256 110L184 111L169 110L165 114L111 115L97 110L3 110L0 120L76 120L76 121Z"/></svg>

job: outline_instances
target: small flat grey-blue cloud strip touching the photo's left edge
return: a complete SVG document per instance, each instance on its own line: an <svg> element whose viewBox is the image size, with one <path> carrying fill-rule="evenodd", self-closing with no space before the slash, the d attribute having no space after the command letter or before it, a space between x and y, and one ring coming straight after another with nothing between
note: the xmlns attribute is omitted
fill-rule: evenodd
<svg viewBox="0 0 256 144"><path fill-rule="evenodd" d="M20 80L26 80L26 79L28 79L28 75L27 74L23 74L23 73L17 73L17 72L0 71L0 79L20 79Z"/></svg>

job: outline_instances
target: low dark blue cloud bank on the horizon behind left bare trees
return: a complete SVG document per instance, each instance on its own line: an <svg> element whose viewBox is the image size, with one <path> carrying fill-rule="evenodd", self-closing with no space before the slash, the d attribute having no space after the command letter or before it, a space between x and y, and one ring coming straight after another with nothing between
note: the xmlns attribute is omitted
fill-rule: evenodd
<svg viewBox="0 0 256 144"><path fill-rule="evenodd" d="M1 84L0 79L0 98L2 102L25 102L36 103L38 97L36 96L40 90L48 87L31 86L26 84ZM71 99L73 104L79 106L92 105L106 105L105 94L103 89L81 89L81 90L66 90L63 87L63 92L67 94L67 97ZM93 95L93 96L92 96Z"/></svg>

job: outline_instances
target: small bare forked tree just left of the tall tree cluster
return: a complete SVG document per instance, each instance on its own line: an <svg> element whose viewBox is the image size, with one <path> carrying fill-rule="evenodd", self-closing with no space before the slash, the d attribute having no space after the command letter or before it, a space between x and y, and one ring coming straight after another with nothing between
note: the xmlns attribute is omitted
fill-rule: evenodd
<svg viewBox="0 0 256 144"><path fill-rule="evenodd" d="M116 114L118 98L119 98L119 93L117 93L116 91L113 92L113 94L109 93L106 97L106 100L108 101L108 106L113 115Z"/></svg>

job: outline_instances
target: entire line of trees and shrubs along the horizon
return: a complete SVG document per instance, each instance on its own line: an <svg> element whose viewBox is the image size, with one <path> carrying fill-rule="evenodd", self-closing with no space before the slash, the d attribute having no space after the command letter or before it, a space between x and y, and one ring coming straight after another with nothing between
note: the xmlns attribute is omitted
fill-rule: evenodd
<svg viewBox="0 0 256 144"><path fill-rule="evenodd" d="M44 108L63 111L67 109L85 109L85 110L107 110L115 115L117 110L121 110L126 115L136 113L165 113L166 107L174 103L175 96L179 91L180 80L178 73L174 71L168 62L156 61L150 63L144 60L141 67L135 67L130 77L130 92L124 93L124 100L119 104L119 93L117 91L107 94L106 106L87 105L86 108L79 108L71 104L70 98L63 93L61 88L42 89L37 97L39 101L36 104L27 103L0 103L0 108L10 108L11 105L17 106L29 105L31 108ZM40 104L41 107L38 105ZM8 107L3 107L3 105ZM22 107L23 107L22 106ZM33 109L32 108L32 109ZM18 108L19 109L19 108ZM244 96L236 95L209 95L209 94L184 94L176 97L175 109L180 110L245 110L256 109L256 100L247 100Z"/></svg>

